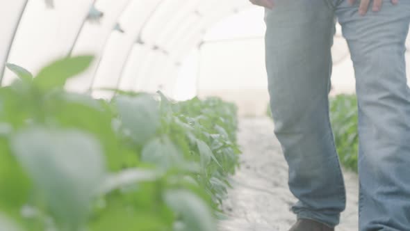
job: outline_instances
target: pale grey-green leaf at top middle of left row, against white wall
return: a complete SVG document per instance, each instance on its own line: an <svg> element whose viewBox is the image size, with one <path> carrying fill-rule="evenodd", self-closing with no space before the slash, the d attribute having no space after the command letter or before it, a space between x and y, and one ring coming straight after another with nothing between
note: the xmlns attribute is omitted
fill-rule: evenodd
<svg viewBox="0 0 410 231"><path fill-rule="evenodd" d="M115 102L122 125L131 133L133 141L142 145L154 136L161 122L158 102L149 95L121 95Z"/></svg>

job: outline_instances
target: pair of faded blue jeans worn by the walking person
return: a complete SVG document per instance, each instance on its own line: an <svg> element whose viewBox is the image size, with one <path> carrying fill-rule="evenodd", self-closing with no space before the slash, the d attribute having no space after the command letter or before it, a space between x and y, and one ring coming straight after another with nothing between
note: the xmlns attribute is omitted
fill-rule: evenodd
<svg viewBox="0 0 410 231"><path fill-rule="evenodd" d="M345 186L329 122L336 18L356 74L359 228L410 230L410 90L404 60L410 0L365 17L347 0L276 0L265 11L266 67L274 132L289 165L293 212L329 226Z"/></svg>

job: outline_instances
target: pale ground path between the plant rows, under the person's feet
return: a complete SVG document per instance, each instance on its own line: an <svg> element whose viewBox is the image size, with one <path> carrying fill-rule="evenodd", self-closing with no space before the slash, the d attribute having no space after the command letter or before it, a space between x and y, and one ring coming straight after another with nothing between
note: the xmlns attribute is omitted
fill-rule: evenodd
<svg viewBox="0 0 410 231"><path fill-rule="evenodd" d="M274 138L270 118L240 120L238 142L243 150L241 167L232 177L223 209L227 219L220 231L287 231L295 222L290 206L295 198L288 190L288 166ZM338 231L358 230L358 179L344 171L347 209Z"/></svg>

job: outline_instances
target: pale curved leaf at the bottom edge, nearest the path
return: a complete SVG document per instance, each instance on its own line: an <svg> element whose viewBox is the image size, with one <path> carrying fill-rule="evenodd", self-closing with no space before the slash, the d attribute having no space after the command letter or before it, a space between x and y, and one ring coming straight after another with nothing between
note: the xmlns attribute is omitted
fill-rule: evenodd
<svg viewBox="0 0 410 231"><path fill-rule="evenodd" d="M185 230L217 230L211 210L195 194L186 190L168 190L164 198L167 205L181 215Z"/></svg>

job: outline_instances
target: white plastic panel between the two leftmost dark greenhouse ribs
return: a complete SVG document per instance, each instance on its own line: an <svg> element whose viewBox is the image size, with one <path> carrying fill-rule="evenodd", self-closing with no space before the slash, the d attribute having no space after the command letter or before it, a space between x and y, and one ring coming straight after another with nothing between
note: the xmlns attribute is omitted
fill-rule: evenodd
<svg viewBox="0 0 410 231"><path fill-rule="evenodd" d="M8 63L21 65L36 73L50 61L67 56L93 1L54 0L52 6L47 1L28 1L13 40ZM3 83L8 84L14 78L14 74L6 70Z"/></svg>

